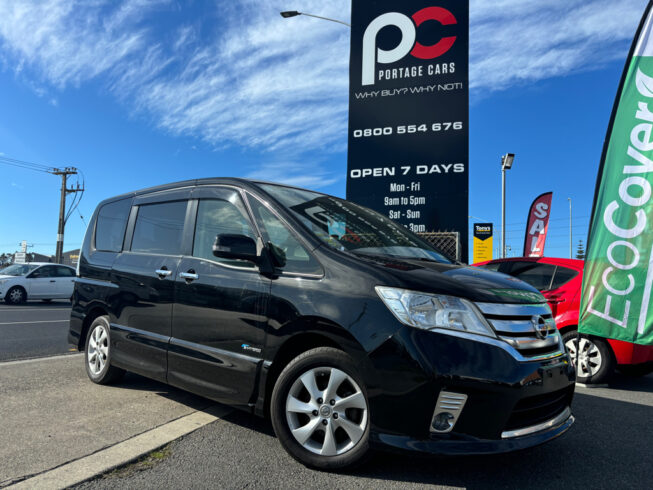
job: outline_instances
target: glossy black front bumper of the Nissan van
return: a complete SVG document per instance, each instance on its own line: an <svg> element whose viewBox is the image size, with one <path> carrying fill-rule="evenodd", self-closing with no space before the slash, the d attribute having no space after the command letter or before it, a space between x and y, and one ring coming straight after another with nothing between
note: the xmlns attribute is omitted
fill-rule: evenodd
<svg viewBox="0 0 653 490"><path fill-rule="evenodd" d="M566 353L524 361L497 345L406 327L370 359L380 374L369 390L377 446L501 453L554 439L574 422L575 371ZM466 396L448 433L431 430L442 392Z"/></svg>

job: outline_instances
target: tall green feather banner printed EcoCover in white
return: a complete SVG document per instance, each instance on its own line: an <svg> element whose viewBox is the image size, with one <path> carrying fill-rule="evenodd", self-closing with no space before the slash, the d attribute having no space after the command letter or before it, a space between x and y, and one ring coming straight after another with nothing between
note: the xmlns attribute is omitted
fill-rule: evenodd
<svg viewBox="0 0 653 490"><path fill-rule="evenodd" d="M651 3L631 48L597 180L579 331L653 345Z"/></svg>

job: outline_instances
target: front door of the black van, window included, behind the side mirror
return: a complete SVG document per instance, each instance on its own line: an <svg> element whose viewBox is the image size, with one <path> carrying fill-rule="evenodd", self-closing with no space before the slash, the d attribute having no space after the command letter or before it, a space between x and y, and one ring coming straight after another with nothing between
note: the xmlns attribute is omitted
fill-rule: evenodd
<svg viewBox="0 0 653 490"><path fill-rule="evenodd" d="M197 188L192 199L194 242L175 281L168 383L245 406L263 362L270 280L252 262L213 255L218 234L256 237L240 193Z"/></svg>

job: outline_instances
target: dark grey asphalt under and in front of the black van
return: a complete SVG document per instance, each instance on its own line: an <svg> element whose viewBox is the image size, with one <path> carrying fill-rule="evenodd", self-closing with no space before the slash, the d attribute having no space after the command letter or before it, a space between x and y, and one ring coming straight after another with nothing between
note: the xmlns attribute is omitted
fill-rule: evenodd
<svg viewBox="0 0 653 490"><path fill-rule="evenodd" d="M578 387L573 412L567 434L528 450L447 458L383 453L341 474L305 468L283 451L268 421L233 412L172 443L158 462L77 488L650 488L653 375Z"/></svg>

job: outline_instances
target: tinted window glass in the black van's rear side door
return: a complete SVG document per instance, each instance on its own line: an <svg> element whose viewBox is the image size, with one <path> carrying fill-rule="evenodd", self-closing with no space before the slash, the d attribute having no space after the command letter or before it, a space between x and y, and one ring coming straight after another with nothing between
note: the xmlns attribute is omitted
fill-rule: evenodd
<svg viewBox="0 0 653 490"><path fill-rule="evenodd" d="M175 201L139 206L132 251L180 254L186 204L187 201Z"/></svg>

